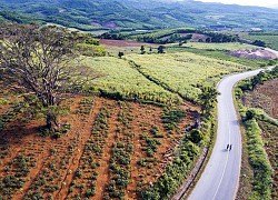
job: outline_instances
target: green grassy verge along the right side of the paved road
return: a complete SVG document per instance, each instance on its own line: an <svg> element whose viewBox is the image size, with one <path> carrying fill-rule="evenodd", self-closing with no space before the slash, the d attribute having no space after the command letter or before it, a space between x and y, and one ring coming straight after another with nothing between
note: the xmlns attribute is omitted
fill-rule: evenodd
<svg viewBox="0 0 278 200"><path fill-rule="evenodd" d="M261 121L277 126L277 120L269 118L262 110L247 108L241 104L242 86L248 81L237 84L236 97L239 112L246 129L244 138L244 154L241 166L240 186L238 199L271 199L274 169L269 162L266 151L266 141L262 139L262 130L259 127ZM246 153L247 151L247 153ZM247 161L248 157L248 162ZM248 183L248 182L251 182ZM247 184L245 184L247 183Z"/></svg>

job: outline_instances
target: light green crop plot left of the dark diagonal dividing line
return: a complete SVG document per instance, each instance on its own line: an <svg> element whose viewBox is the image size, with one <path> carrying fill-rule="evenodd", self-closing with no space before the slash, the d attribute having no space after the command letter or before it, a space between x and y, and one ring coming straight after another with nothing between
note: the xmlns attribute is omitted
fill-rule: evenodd
<svg viewBox="0 0 278 200"><path fill-rule="evenodd" d="M125 60L112 57L87 58L83 63L103 73L103 77L92 82L103 96L159 103L181 102L177 94L149 81Z"/></svg>

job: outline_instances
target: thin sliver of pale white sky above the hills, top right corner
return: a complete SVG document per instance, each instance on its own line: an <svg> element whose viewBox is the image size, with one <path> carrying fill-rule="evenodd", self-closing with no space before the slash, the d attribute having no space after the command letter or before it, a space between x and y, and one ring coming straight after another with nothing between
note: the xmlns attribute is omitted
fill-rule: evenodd
<svg viewBox="0 0 278 200"><path fill-rule="evenodd" d="M226 4L270 7L278 4L278 0L198 0L202 2L221 2Z"/></svg>

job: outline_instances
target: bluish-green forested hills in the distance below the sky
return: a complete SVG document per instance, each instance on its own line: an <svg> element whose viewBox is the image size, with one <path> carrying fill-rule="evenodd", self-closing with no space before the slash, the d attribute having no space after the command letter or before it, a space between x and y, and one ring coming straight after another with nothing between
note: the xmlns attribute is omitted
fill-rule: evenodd
<svg viewBox="0 0 278 200"><path fill-rule="evenodd" d="M81 30L262 28L278 30L278 10L162 0L0 0L0 21L58 23Z"/></svg>

